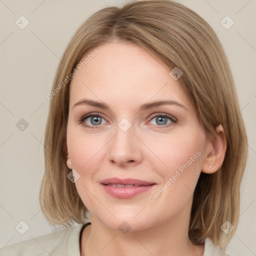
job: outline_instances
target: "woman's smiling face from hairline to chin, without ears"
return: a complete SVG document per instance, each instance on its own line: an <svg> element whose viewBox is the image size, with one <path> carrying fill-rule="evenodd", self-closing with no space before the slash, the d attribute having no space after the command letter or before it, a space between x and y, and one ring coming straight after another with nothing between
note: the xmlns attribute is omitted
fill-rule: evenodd
<svg viewBox="0 0 256 256"><path fill-rule="evenodd" d="M67 156L84 205L114 229L189 217L208 154L195 109L143 48L112 42L97 50L70 85Z"/></svg>

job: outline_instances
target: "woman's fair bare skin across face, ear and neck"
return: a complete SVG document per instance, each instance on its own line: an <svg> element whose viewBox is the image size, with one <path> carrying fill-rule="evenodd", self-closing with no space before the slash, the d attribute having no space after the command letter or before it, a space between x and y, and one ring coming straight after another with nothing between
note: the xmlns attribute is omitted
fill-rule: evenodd
<svg viewBox="0 0 256 256"><path fill-rule="evenodd" d="M80 175L75 185L91 215L91 225L82 232L81 255L202 255L204 245L193 245L188 238L192 194L200 172L212 173L222 164L226 150L222 126L214 138L208 138L178 80L145 49L127 42L106 43L97 49L71 80L69 95L67 166ZM104 102L109 109L74 106L84 98ZM186 109L164 104L139 111L141 104L157 100L175 100ZM79 122L91 112L102 116L101 123L99 119L100 124L93 126L90 117L82 123L95 128ZM167 124L161 125L154 114L173 116L177 122L167 118ZM122 118L131 124L127 131L118 126ZM200 156L149 201L198 151ZM156 185L120 199L99 185L109 177ZM118 228L123 221L130 226L127 233Z"/></svg>

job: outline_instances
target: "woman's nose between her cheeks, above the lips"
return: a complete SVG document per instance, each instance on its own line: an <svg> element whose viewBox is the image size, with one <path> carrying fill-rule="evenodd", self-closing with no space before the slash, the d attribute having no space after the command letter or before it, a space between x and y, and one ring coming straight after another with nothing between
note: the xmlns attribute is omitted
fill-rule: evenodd
<svg viewBox="0 0 256 256"><path fill-rule="evenodd" d="M108 160L121 167L135 166L142 161L141 141L134 134L133 125L128 130L120 127L116 127L116 134L109 141Z"/></svg>

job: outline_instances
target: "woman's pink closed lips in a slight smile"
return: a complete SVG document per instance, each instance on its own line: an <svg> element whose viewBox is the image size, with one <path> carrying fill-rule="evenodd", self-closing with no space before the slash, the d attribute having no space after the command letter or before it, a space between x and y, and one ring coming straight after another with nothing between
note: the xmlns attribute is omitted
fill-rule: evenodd
<svg viewBox="0 0 256 256"><path fill-rule="evenodd" d="M134 178L107 178L100 181L101 186L111 196L128 199L148 191L156 184L154 182Z"/></svg>

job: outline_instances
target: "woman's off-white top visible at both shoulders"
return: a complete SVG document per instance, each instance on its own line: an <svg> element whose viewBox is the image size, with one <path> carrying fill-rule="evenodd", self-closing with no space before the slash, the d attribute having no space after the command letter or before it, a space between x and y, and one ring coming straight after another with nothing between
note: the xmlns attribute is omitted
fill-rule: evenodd
<svg viewBox="0 0 256 256"><path fill-rule="evenodd" d="M0 249L0 256L80 256L80 233L88 223L55 231L50 234L18 242ZM204 242L202 256L228 256L210 238Z"/></svg>

